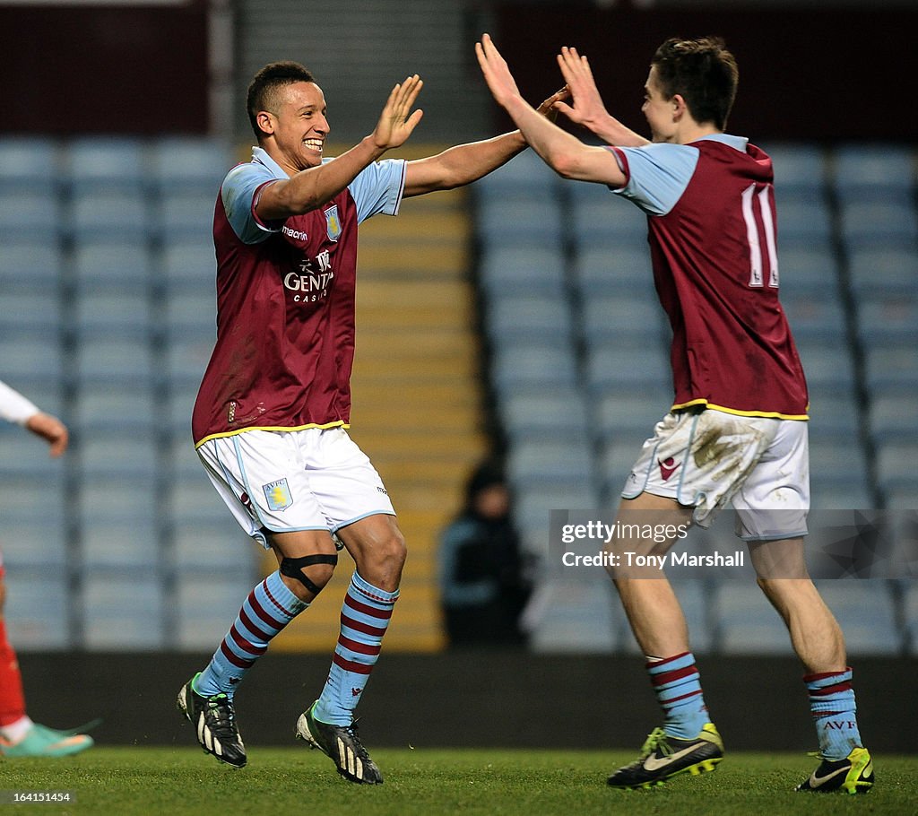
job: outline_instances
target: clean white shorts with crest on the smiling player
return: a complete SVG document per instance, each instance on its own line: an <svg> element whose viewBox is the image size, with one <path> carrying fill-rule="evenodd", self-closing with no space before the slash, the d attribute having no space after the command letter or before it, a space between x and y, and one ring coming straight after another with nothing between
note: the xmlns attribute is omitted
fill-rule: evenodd
<svg viewBox="0 0 918 816"><path fill-rule="evenodd" d="M396 514L369 457L342 428L247 430L208 440L197 455L242 529L265 549L265 531L334 534L367 516Z"/></svg>

